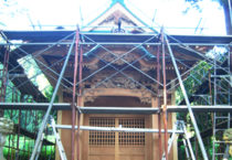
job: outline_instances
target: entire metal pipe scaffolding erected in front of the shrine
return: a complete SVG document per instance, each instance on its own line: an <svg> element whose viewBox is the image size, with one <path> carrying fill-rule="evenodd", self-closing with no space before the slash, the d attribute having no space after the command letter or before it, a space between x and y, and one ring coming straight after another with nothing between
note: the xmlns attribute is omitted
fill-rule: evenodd
<svg viewBox="0 0 232 160"><path fill-rule="evenodd" d="M59 36L57 36L59 32ZM25 94L21 95L20 102L14 100L8 103L1 100L0 107L1 109L8 110L10 109L11 113L14 109L20 109L20 114L18 116L19 118L19 126L18 126L18 141L17 141L17 150L18 152L20 151L19 149L19 136L22 134L23 130L22 125L21 125L21 110L25 109L27 115L31 110L27 109L36 109L36 110L44 110L43 111L43 120L41 121L40 128L38 128L38 134L34 134L32 137L36 140L34 141L34 147L33 150L31 149L31 152L29 151L29 156L31 160L39 159L40 158L40 151L43 147L44 143L49 143L49 141L44 142L44 134L48 134L48 121L49 117L52 114L52 110L65 110L65 109L72 109L72 126L56 126L56 128L60 129L71 129L72 130L72 160L75 159L75 152L77 153L77 159L80 160L80 130L105 130L105 131L147 131L147 132L157 132L159 135L159 159L168 159L168 152L169 152L169 146L171 142L168 140L168 132L175 132L175 134L183 134L186 132L184 122L182 124L182 129L181 130L176 130L175 128L172 130L169 130L167 127L167 116L168 113L188 113L190 115L191 122L194 128L197 141L199 142L202 158L204 160L209 159L209 154L205 151L204 143L201 137L201 132L199 130L198 124L196 121L194 113L197 111L203 111L203 113L214 113L214 120L213 120L213 137L217 137L217 131L222 130L222 128L218 129L217 127L220 126L220 122L226 122L226 128L230 127L230 114L224 114L224 113L230 113L232 110L231 107L231 64L230 64L230 58L231 58L231 36L182 36L182 35L168 35L165 32L165 29L161 29L159 34L156 33L149 33L149 34L122 34L122 33L107 33L107 34L98 34L98 33L85 33L80 31L78 29L76 31L55 31L55 33L49 33L49 32L43 32L43 31L33 31L33 32L1 32L3 38L6 39L7 43L1 43L1 56L3 55L4 61L4 74L2 73L2 83L1 83L1 98L9 97L8 93L6 93L7 88L7 81L9 79L9 75L13 74L14 79L20 78L20 76L15 77L19 74L23 74L23 72L19 72L20 64L12 61L12 56L15 56L18 58L25 56L25 55L31 55L32 52L27 51L27 46L34 46L36 47L38 51L36 54L33 54L33 58L38 64L40 64L41 68L43 68L43 73L50 76L51 79L53 79L56 84L54 85L54 92L52 95L52 98L50 103L41 103L40 100L35 100L34 98L36 97L35 95L29 95L28 97L32 98L33 103L28 103L30 100L23 100L25 98ZM28 34L28 35L27 35ZM51 42L41 42L43 39L42 36L46 36L50 39ZM56 38L57 36L57 38ZM27 42L27 43L12 43L10 40L13 39L24 39L25 41L30 41L35 39L33 42ZM56 42L55 42L56 41ZM6 50L9 46L18 46L15 50ZM20 45L20 46L19 46ZM49 46L48 46L49 45ZM42 55L44 52L49 51L50 49L53 49L55 46L68 46L66 51L66 55L63 57L60 57L57 61L53 62L48 66L46 64L43 64L41 60L39 58L40 55ZM128 51L122 53L122 54L116 54L113 51L110 51L110 45L114 46L127 46ZM218 58L212 58L210 56L207 56L205 52L212 49L213 46L223 46L226 47L226 58L223 60L223 62L219 61ZM48 47L44 47L48 46ZM86 52L84 52L84 46L91 46L91 49ZM152 47L152 50L148 50L147 46ZM198 50L199 47L202 49ZM205 50L205 49L207 50ZM93 54L96 50L101 50L113 56L110 61L106 61L102 56L97 54ZM129 62L126 57L128 54L131 52L139 50L144 51L141 55L139 55L137 58ZM6 51L6 52L4 52ZM10 51L10 52L9 52ZM175 51L175 52L173 52ZM182 52L179 53L178 55L176 52ZM188 56L193 54L196 57L194 62L189 62L189 60L180 60L182 56ZM92 73L85 74L83 70L83 63L84 60L87 58L86 55L94 56L97 58L102 67L95 70ZM141 68L139 68L136 63L138 63L140 60L145 58L147 55L149 55L150 58L155 58L157 63L156 67L156 76L155 73L148 74ZM74 65L73 65L73 82L71 82L68 78L64 76L66 68L68 67L68 62L71 61L71 56L74 56ZM178 57L176 57L178 56ZM224 57L220 56L220 57ZM171 68L175 71L176 77L171 81L167 81L166 77L166 72L167 72L167 61L168 63L172 64ZM184 62L186 61L186 62ZM123 67L118 67L115 65L116 62L124 63L125 65ZM202 76L198 67L203 63L207 63L210 65L210 70L205 72L205 74ZM224 63L228 63L224 66ZM8 65L10 65L10 70L8 70ZM61 65L61 72L54 71L54 66L57 66L57 64ZM104 79L97 82L94 84L94 86L91 86L91 88L85 88L84 83L88 79L91 79L93 76L95 76L97 73L104 71L105 68L110 67L115 72L105 77ZM170 66L168 66L170 67ZM181 68L186 68L184 71ZM130 76L126 71L128 68L133 68L134 71L138 72L140 75L149 79L150 83L156 84L155 88L150 88L146 86L140 81L135 79L133 76ZM20 68L21 70L21 68ZM181 71L180 71L181 70ZM205 75L210 74L211 71L214 71L212 75L212 79L208 78ZM7 72L6 72L7 71ZM52 73L52 74L48 74ZM200 82L198 85L201 86L201 82L208 82L210 85L213 85L213 90L214 90L214 97L212 98L212 95L202 95L202 93L198 95L191 95L187 93L184 82L187 82L190 78L190 74L194 73L198 76L192 77L196 82ZM85 75L84 75L85 74ZM93 89L96 89L104 85L105 82L114 78L117 75L122 75L125 78L127 78L129 82L133 82L136 84L135 89L140 89L140 90L146 90L149 93L152 97L158 98L158 108L144 108L144 107L138 107L138 108L131 108L131 107L84 107L82 102L82 97L91 93ZM36 76L36 75L35 75ZM192 76L192 75L191 75ZM200 76L200 79L199 79ZM27 85L30 83L30 78L28 78L24 82L21 82L20 84L14 83L17 89L22 89L23 85ZM175 85L171 85L175 84ZM31 84L30 84L31 85ZM65 88L67 92L72 93L72 103L63 104L63 103L54 103L56 94L59 92L60 87ZM168 93L173 90L175 88L177 89L180 87L181 93L183 95L184 104L182 106L169 106L167 104L167 96ZM212 89L211 87L209 87ZM25 88L24 88L25 89ZM161 93L162 89L162 93ZM196 90L194 93L197 93ZM17 93L17 92L12 92ZM23 89L22 89L23 93ZM25 93L25 92L24 92ZM30 92L28 92L29 94ZM38 90L38 93L40 93ZM207 92L212 93L212 92ZM202 99L207 99L208 102L204 105L191 105L192 97L200 97ZM220 98L218 98L220 96ZM42 97L42 95L38 95L38 97ZM207 97L207 98L205 98ZM223 98L223 102L219 102ZM209 102L210 99L210 102ZM211 102L214 102L213 104ZM23 103L24 102L24 103ZM162 104L161 104L162 102ZM221 116L219 116L218 113ZM103 128L103 127L91 127L91 126L81 126L81 115L82 114L140 114L140 115L154 115L158 114L158 130L154 129L133 129L133 128ZM36 116L36 113L34 113ZM164 119L161 120L161 116ZM218 119L224 118L223 121L218 122ZM13 115L12 117L13 118ZM36 118L35 118L36 119ZM77 119L77 124L76 124ZM25 126L29 121L24 121ZM161 124L164 122L164 129L161 128ZM39 126L38 121L34 121L34 126ZM27 130L27 128L25 128ZM175 131L173 131L175 130ZM75 137L74 135L77 134ZM165 134L164 140L161 139L161 134ZM45 136L46 137L46 136ZM14 139L14 138L12 138ZM77 146L75 147L75 139L77 140ZM191 142L189 140L189 137L183 138L183 143L186 143L187 140L187 146L189 149L186 149L187 151L187 157L191 157L192 159L198 159L198 156L193 153L192 148L191 148ZM170 140L171 141L171 140ZM162 143L164 142L164 143ZM221 142L217 141L214 138L213 141L213 159L218 157L219 150L214 148L215 143ZM162 147L164 146L164 150ZM45 145L46 147L46 145ZM10 148L10 146L9 146ZM76 148L76 151L75 151ZM190 151L190 156L189 156ZM223 152L224 154L224 152ZM9 159L13 159L12 157Z"/></svg>

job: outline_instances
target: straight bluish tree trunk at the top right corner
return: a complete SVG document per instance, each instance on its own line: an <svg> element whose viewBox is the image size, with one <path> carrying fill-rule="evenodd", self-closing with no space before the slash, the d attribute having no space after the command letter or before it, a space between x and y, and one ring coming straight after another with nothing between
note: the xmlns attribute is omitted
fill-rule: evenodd
<svg viewBox="0 0 232 160"><path fill-rule="evenodd" d="M226 34L232 35L232 25L231 25L230 8L228 0L225 0L225 2L222 3L222 7L224 10Z"/></svg>

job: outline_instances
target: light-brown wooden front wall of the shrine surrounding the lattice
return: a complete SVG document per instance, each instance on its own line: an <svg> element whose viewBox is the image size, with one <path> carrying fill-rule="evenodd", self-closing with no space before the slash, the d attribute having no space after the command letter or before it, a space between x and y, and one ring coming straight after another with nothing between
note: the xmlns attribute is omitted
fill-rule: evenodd
<svg viewBox="0 0 232 160"><path fill-rule="evenodd" d="M118 107L156 107L156 98L151 104L141 104L136 97L97 97L94 103L86 103L85 106L118 106ZM62 111L62 124L71 125L71 111ZM119 119L144 119L145 128L158 128L157 115L82 115L82 125L89 126L89 118L110 118L115 119L115 127L119 127ZM171 128L172 118L169 114L168 127ZM124 127L124 126L123 126ZM93 132L92 132L93 134ZM95 136L97 134L95 132ZM101 135L101 134L99 134ZM98 135L98 136L99 136ZM127 137L143 135L126 135ZM89 131L81 132L81 160L158 160L158 134L145 134L145 142L137 145L136 142L127 142L122 145L122 135L115 132L115 143L91 143ZM102 136L107 137L107 136ZM125 137L125 135L124 135ZM62 143L64 146L67 159L71 159L71 130L61 131ZM99 138L98 138L99 139ZM135 139L135 138L134 138ZM162 136L164 140L164 136ZM107 141L107 140L106 140ZM172 152L169 154L172 158Z"/></svg>

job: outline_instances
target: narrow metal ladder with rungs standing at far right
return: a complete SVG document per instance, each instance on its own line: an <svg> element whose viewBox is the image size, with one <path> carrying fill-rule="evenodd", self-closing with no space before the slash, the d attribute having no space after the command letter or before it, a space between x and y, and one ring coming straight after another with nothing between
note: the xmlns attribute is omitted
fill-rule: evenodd
<svg viewBox="0 0 232 160"><path fill-rule="evenodd" d="M214 60L214 106L230 106L230 51L226 57L226 66L219 67L217 60ZM223 74L218 74L222 72ZM231 115L230 113L214 113L213 114L213 153L212 160L228 159L229 145L222 140L224 130L230 128ZM220 150L221 148L221 150Z"/></svg>

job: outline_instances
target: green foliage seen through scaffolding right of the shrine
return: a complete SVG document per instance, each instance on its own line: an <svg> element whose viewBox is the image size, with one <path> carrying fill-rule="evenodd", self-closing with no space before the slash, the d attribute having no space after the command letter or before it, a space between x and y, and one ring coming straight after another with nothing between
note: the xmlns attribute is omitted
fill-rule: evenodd
<svg viewBox="0 0 232 160"><path fill-rule="evenodd" d="M213 47L209 53L207 53L207 56L210 58L215 58L220 63L225 62L228 57L228 50L225 47L219 47L215 46ZM204 61L199 62L199 64L190 72L188 77L184 79L183 85L187 89L188 97L192 96L196 94L196 92L199 89L199 86L202 85L203 82L208 81L208 75L212 74L212 64L209 64ZM205 86L209 87L209 86ZM176 97L177 97L177 103L180 103L183 99L182 92L180 87L176 92ZM208 93L209 95L209 93ZM213 88L212 88L212 95L213 95ZM205 98L205 97L204 97ZM209 105L211 104L211 98L210 96L207 96L208 99L201 100L201 98L194 100L191 103L191 105ZM205 103L208 100L208 103ZM194 129L191 124L191 119L189 114L177 114L178 119L183 119L187 122L187 129L188 132L191 132L192 137L194 137ZM213 117L211 113L194 113L196 120L199 127L200 131L207 130L207 129L212 129L213 125ZM204 147L208 152L209 158L212 158L212 147L213 147L213 138L215 137L207 137L203 139L204 141ZM219 138L222 140L222 138ZM202 159L200 147L198 142L193 142L193 151L196 152L196 147L198 148L198 158L197 159ZM215 150L218 152L221 150L222 147L219 143L215 143ZM223 149L222 149L223 150ZM184 154L184 148L183 146L180 147L179 152L181 154ZM180 158L183 159L183 158Z"/></svg>

